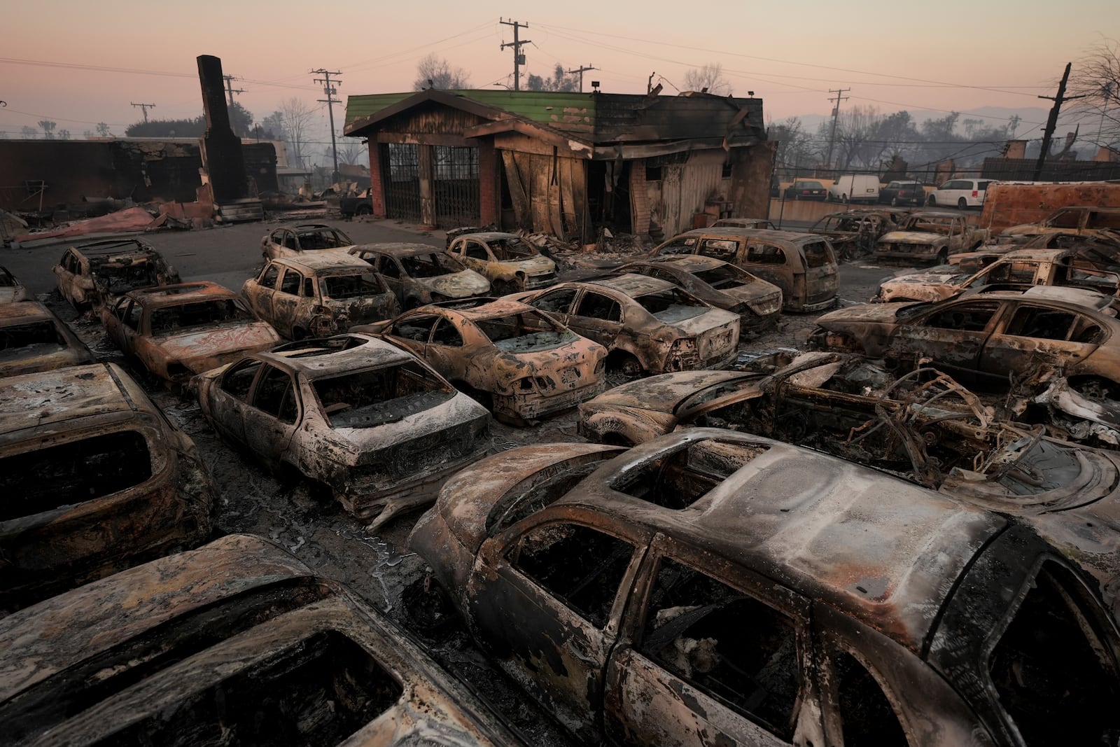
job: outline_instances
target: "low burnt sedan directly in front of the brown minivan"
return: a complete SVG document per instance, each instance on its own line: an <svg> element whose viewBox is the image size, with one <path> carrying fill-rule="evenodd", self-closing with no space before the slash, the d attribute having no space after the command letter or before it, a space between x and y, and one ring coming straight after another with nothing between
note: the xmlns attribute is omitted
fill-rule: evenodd
<svg viewBox="0 0 1120 747"><path fill-rule="evenodd" d="M711 256L682 254L629 262L617 272L644 274L680 286L717 309L738 314L741 329L772 327L782 314L781 288Z"/></svg>

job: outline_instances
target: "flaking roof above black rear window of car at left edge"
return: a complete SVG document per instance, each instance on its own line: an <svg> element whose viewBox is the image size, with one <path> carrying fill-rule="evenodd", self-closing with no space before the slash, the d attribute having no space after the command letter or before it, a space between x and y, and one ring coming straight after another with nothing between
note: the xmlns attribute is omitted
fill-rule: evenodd
<svg viewBox="0 0 1120 747"><path fill-rule="evenodd" d="M137 384L112 363L0 379L0 435L150 408Z"/></svg>

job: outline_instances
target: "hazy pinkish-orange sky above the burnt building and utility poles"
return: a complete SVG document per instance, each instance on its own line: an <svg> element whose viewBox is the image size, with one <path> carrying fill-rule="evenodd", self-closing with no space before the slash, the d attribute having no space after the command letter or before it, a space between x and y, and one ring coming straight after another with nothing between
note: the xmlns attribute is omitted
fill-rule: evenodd
<svg viewBox="0 0 1120 747"><path fill-rule="evenodd" d="M22 125L48 119L74 138L97 122L123 134L141 119L132 102L155 103L155 119L195 116L200 54L221 57L224 72L240 78L236 100L258 121L291 96L320 106L312 68L343 72L344 102L410 90L417 62L431 52L465 68L473 87L504 85L512 83L512 52L498 47L513 34L498 19L511 12L529 24L521 38L532 41L524 48L530 73L590 64L598 69L586 74L588 84L640 93L655 71L665 93L675 93L689 68L720 63L735 94L754 91L774 120L827 113L828 90L838 87L851 88L844 106L883 112L1049 106L1036 96L1053 95L1066 62L1120 37L1117 0L196 0L128 10L88 0L7 2L0 130L19 137ZM340 129L337 109L336 121Z"/></svg>

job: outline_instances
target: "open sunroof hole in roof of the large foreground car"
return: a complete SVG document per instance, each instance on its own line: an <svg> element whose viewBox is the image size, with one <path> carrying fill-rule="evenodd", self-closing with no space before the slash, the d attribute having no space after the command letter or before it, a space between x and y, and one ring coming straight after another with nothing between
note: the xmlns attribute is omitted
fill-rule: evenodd
<svg viewBox="0 0 1120 747"><path fill-rule="evenodd" d="M760 443L692 441L624 471L610 487L663 508L688 508L768 450L768 446Z"/></svg>

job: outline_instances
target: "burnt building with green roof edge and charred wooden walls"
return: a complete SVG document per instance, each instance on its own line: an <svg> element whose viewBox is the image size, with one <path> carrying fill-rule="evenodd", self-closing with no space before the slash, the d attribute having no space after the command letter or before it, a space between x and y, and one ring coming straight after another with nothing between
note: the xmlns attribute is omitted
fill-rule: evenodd
<svg viewBox="0 0 1120 747"><path fill-rule="evenodd" d="M760 99L536 91L349 96L370 143L375 216L494 224L588 243L765 216L773 165Z"/></svg>

